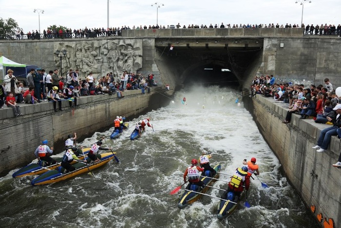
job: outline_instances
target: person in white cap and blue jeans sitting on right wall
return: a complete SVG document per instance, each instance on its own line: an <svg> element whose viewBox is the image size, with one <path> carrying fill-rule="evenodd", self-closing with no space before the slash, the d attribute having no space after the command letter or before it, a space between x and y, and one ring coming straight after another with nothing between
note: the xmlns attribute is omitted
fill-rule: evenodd
<svg viewBox="0 0 341 228"><path fill-rule="evenodd" d="M319 149L316 152L324 152L328 149L331 136L337 135L337 130L341 127L341 104L338 104L333 109L338 115L335 118L330 118L327 116L327 120L331 123L333 123L333 127L325 128L321 131L319 140L317 141L317 145L313 147L313 149Z"/></svg>

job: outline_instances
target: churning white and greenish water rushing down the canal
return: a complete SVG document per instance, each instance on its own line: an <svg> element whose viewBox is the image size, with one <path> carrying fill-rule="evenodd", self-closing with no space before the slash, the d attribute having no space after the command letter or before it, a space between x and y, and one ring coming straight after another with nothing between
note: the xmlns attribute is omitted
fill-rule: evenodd
<svg viewBox="0 0 341 228"><path fill-rule="evenodd" d="M0 178L0 227L65 228L312 228L318 227L298 193L280 173L280 163L259 133L251 115L235 103L236 92L217 87L198 93L178 93L174 103L134 119L119 139L114 128L95 133L80 145L107 136L104 146L117 152L114 160L70 180L32 187L33 177ZM186 96L187 105L181 104ZM168 99L165 97L165 99ZM203 107L204 105L204 107ZM121 114L117 114L121 115ZM133 125L150 117L152 128L138 140L129 136ZM170 191L183 183L183 172L201 151L212 152L211 165L233 173L243 159L257 158L260 181L251 180L247 209L243 202L232 216L216 218L218 199L204 196L185 209ZM61 156L57 154L56 156ZM227 176L221 175L227 180ZM226 189L217 181L214 187ZM220 196L220 190L208 194Z"/></svg>

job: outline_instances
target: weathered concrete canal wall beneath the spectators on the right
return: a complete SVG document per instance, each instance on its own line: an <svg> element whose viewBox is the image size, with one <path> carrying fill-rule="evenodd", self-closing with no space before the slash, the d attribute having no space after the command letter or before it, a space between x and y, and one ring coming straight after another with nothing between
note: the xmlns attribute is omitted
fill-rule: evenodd
<svg viewBox="0 0 341 228"><path fill-rule="evenodd" d="M301 194L308 208L315 206L314 215L332 218L335 227L341 224L341 170L332 167L338 161L341 141L332 137L329 149L319 153L312 149L327 124L317 124L311 118L300 119L293 114L291 123L284 124L287 108L283 102L256 95L244 98L266 142L280 160L289 182ZM323 225L323 221L321 226Z"/></svg>

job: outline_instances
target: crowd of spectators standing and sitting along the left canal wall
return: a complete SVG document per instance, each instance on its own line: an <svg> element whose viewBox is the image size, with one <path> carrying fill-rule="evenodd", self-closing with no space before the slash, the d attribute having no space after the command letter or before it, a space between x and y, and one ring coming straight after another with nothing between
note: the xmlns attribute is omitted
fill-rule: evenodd
<svg viewBox="0 0 341 228"><path fill-rule="evenodd" d="M121 76L115 77L112 72L105 76L94 77L92 72L89 72L85 78L79 77L79 70L70 69L64 75L58 75L58 70L45 73L42 68L31 69L27 75L28 89L24 88L23 83L14 76L14 72L9 69L4 77L4 84L0 86L0 108L13 108L15 116L21 115L18 108L20 103L37 104L42 101L54 102L54 109L57 112L56 103L59 103L61 110L61 99L67 99L71 108L76 108L76 99L80 96L88 95L113 95L117 93L118 97L123 97L122 92L125 90L141 89L142 93L150 92L150 88L157 86L154 81L154 75L142 76L138 73L123 72ZM8 102L8 97L11 95L11 101ZM13 106L13 107L12 107Z"/></svg>

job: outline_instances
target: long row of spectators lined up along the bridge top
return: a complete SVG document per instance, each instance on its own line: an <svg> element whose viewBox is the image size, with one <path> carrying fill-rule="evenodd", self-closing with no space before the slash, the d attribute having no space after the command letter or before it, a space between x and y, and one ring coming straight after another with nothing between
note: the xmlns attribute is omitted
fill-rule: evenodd
<svg viewBox="0 0 341 228"><path fill-rule="evenodd" d="M42 33L39 33L38 30L34 31L32 30L27 32L26 34L22 30L18 30L16 34L9 34L7 37L10 38L15 38L15 39L40 39L40 38L100 38L100 37L111 37L111 36L121 36L121 31L126 30L126 29L171 29L171 28L251 28L251 29L256 29L256 28L304 28L304 35L328 35L328 36L334 36L334 35L341 35L341 25L339 24L338 26L335 26L334 24L327 24L325 23L324 25L313 25L313 24L308 24L304 25L302 24L299 26L299 24L289 24L286 23L279 25L279 23L274 24L274 23L269 23L269 24L224 24L221 23L220 25L218 24L209 24L209 25L198 25L198 24L189 24L189 25L180 25L178 23L177 25L140 25L140 26L133 26L130 28L129 26L127 27L126 25L121 26L121 27L108 27L108 28L80 28L80 29L44 29Z"/></svg>

